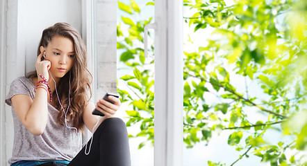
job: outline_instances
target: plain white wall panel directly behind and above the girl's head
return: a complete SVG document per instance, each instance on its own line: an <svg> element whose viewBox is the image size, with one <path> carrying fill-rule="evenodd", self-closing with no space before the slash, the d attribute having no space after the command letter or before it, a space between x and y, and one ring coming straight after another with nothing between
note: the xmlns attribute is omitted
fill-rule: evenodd
<svg viewBox="0 0 307 166"><path fill-rule="evenodd" d="M56 22L67 22L82 32L81 0L19 0L18 55L26 59L25 72L35 70L34 64L42 30Z"/></svg>

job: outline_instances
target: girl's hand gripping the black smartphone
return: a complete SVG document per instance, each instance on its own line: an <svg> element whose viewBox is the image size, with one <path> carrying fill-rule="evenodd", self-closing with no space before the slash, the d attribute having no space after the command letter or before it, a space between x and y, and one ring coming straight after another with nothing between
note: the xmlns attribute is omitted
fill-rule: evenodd
<svg viewBox="0 0 307 166"><path fill-rule="evenodd" d="M97 106L96 106L96 109L98 111L101 111L101 113L103 113L106 118L112 118L114 116L114 114L116 113L116 111L119 109L120 107L120 100L119 98L115 98L114 96L112 95L109 95L108 98L110 100L112 100L114 102L114 104L106 101L106 100L103 100L102 98L96 103Z"/></svg>

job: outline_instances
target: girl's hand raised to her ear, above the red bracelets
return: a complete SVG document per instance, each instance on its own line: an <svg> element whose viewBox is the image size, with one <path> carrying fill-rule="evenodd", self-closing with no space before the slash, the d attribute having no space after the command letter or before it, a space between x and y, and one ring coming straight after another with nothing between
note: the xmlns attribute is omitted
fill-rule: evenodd
<svg viewBox="0 0 307 166"><path fill-rule="evenodd" d="M47 59L42 59L42 55L44 55L44 51L38 55L38 58L35 62L36 72L42 76L44 76L47 80L49 80L49 69L51 68L51 62ZM42 78L38 77L38 81L42 80Z"/></svg>

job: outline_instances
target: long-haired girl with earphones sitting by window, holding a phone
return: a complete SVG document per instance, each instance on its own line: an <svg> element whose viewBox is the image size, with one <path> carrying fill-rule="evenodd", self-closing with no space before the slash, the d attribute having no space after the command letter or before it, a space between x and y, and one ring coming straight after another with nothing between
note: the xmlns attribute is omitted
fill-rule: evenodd
<svg viewBox="0 0 307 166"><path fill-rule="evenodd" d="M43 31L35 68L14 80L6 97L14 120L8 163L131 165L126 125L113 118L120 100L110 95L113 104L101 99L97 107L90 101L85 44L72 26L57 23ZM105 116L92 115L95 108ZM81 149L85 127L93 136Z"/></svg>

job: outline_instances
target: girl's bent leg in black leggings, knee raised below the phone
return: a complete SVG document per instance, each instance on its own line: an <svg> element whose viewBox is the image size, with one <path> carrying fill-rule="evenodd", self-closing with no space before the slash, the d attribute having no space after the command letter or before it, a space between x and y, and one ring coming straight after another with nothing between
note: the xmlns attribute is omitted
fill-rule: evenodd
<svg viewBox="0 0 307 166"><path fill-rule="evenodd" d="M130 150L128 144L128 133L126 124L119 118L108 118L104 120L94 132L92 146L90 140L87 145L69 163L69 166L78 165L131 165Z"/></svg>

